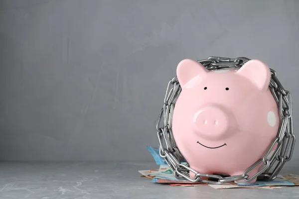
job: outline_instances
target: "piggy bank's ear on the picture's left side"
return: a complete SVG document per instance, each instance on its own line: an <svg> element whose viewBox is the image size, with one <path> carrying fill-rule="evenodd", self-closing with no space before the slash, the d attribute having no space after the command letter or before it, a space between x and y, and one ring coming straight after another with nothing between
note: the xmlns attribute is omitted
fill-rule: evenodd
<svg viewBox="0 0 299 199"><path fill-rule="evenodd" d="M176 68L176 76L182 88L193 79L202 78L208 70L199 62L191 59L182 60Z"/></svg>

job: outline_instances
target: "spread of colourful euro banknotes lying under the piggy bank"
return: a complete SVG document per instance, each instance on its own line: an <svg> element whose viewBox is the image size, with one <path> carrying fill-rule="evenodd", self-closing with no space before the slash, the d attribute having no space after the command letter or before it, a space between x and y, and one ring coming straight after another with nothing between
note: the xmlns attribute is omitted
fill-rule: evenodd
<svg viewBox="0 0 299 199"><path fill-rule="evenodd" d="M263 188L263 189L278 189L290 186L299 185L299 175L289 174L286 176L278 175L273 181L257 181L254 184L236 184L234 182L225 183L222 185L211 185L206 183L192 183L187 180L178 180L174 177L173 172L165 162L163 158L159 156L159 149L154 147L147 147L151 155L153 156L158 169L141 170L139 173L142 177L151 179L152 183L156 184L168 184L170 186L210 186L214 189L231 189L231 188Z"/></svg>

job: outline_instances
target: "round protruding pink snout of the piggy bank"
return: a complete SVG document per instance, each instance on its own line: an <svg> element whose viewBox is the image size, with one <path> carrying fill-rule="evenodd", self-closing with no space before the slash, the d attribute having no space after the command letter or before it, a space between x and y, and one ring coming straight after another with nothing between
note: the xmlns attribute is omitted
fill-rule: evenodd
<svg viewBox="0 0 299 199"><path fill-rule="evenodd" d="M229 114L217 106L205 106L194 115L196 131L210 140L219 140L228 131Z"/></svg>

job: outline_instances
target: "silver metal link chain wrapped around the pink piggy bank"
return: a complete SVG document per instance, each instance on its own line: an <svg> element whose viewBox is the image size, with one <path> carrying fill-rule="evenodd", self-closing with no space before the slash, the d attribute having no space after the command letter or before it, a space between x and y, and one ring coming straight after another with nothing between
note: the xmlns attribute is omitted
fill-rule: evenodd
<svg viewBox="0 0 299 199"><path fill-rule="evenodd" d="M250 59L246 57L238 57L236 59L224 58L224 57L209 57L205 60L198 60L208 70L217 70L222 68L241 68ZM263 180L273 180L277 174L281 171L284 164L291 160L296 137L293 133L293 117L292 117L292 96L291 93L284 89L282 84L277 78L277 73L273 69L271 70L271 81L269 88L275 98L277 105L279 106L279 112L281 116L281 123L277 133L276 139L273 140L269 146L267 152L262 159L258 160L255 164L250 166L243 175L237 176L223 176L223 175L211 175L202 174L189 167L189 164L182 164L184 160L182 154L177 148L173 134L171 131L172 115L175 102L181 92L181 87L177 80L177 77L172 78L168 82L166 94L164 98L163 107L159 113L156 123L157 136L159 140L159 155L165 159L166 163L172 170L174 176L177 179L188 180L190 182L203 182L209 184L223 184L226 182L234 182L238 180L252 181L254 178ZM163 116L163 125L160 125ZM267 156L272 151L273 147L277 145L275 152L269 159ZM184 160L185 161L185 160ZM185 161L186 162L186 161ZM254 176L249 178L248 173L257 167L260 163L263 163L263 168ZM270 170L273 169L272 172ZM194 178L191 178L189 173L195 174ZM208 180L202 180L201 177L209 177ZM211 180L211 179L216 179Z"/></svg>

